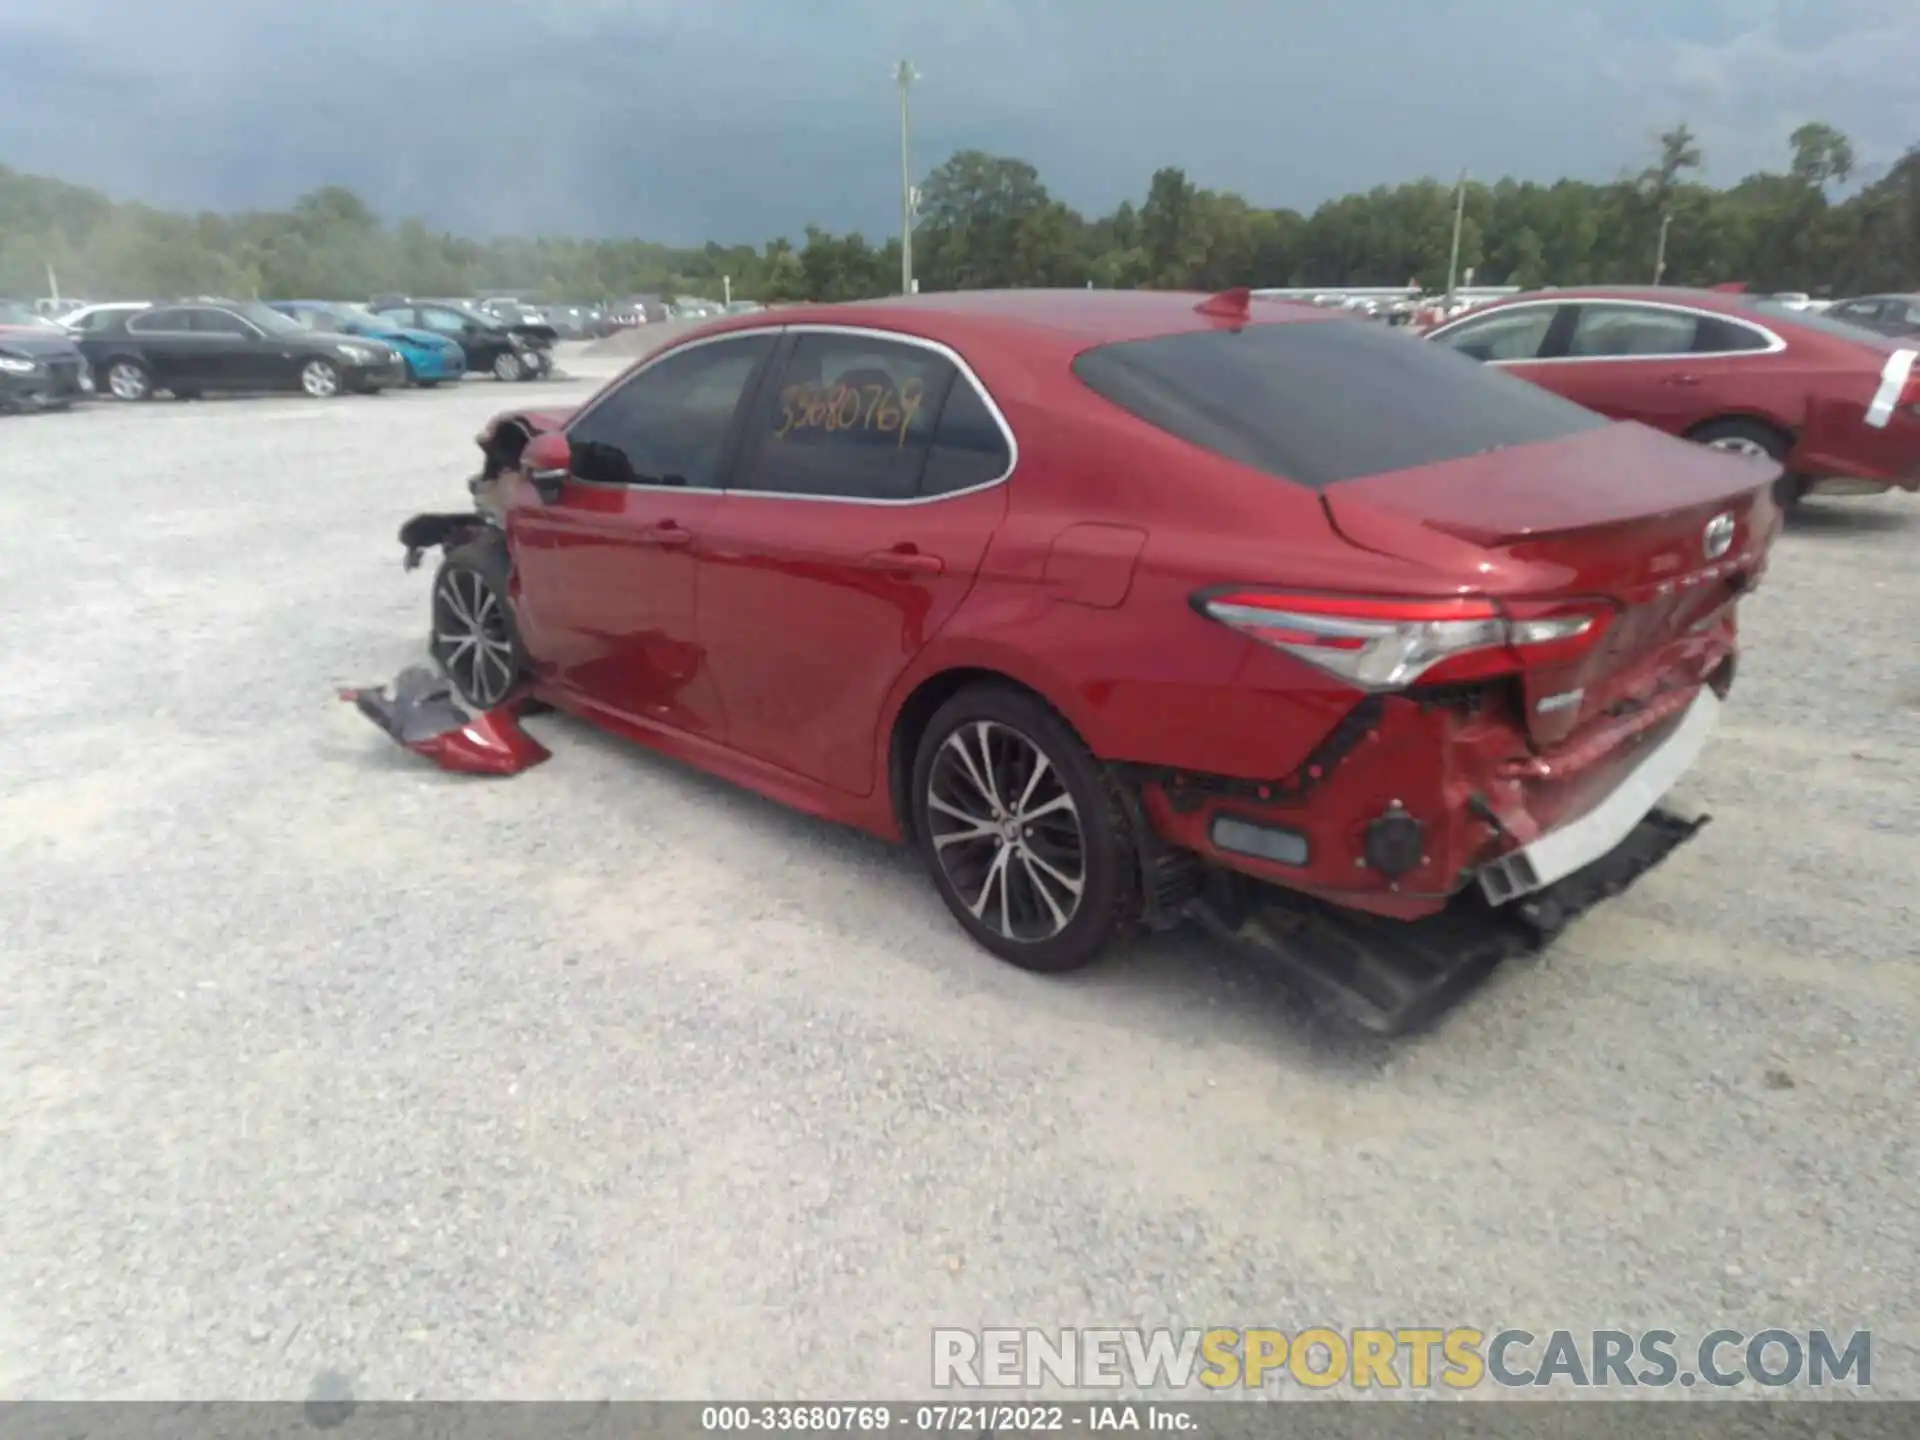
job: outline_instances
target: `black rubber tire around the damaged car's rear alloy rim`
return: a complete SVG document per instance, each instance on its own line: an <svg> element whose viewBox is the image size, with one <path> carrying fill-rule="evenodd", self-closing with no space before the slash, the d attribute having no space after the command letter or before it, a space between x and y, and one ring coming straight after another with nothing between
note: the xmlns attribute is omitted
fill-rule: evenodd
<svg viewBox="0 0 1920 1440"><path fill-rule="evenodd" d="M1052 939L1012 941L977 922L933 851L927 826L927 780L933 774L933 760L947 737L973 720L993 720L1039 745L1060 772L1079 810L1081 837L1087 845L1087 885L1073 920ZM1077 970L1096 960L1131 922L1139 920L1133 835L1119 810L1114 781L1071 726L1037 697L1006 685L970 685L935 710L914 755L908 804L914 845L927 866L933 889L960 927L998 958L1041 973Z"/></svg>

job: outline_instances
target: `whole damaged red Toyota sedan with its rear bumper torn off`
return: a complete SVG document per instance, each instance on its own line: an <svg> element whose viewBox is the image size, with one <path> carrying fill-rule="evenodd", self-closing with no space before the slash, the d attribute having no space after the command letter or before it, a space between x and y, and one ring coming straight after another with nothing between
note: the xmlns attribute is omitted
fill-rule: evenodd
<svg viewBox="0 0 1920 1440"><path fill-rule="evenodd" d="M1780 528L1776 468L1246 292L741 317L480 447L401 530L465 705L904 839L1014 964L1198 918L1380 1029L1701 824Z"/></svg>

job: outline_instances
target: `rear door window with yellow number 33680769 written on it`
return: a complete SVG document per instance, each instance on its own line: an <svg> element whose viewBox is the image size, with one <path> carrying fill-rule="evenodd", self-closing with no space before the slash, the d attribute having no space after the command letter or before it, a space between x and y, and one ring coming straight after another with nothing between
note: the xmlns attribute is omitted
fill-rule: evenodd
<svg viewBox="0 0 1920 1440"><path fill-rule="evenodd" d="M952 386L925 346L862 334L803 334L751 438L741 490L912 499Z"/></svg>

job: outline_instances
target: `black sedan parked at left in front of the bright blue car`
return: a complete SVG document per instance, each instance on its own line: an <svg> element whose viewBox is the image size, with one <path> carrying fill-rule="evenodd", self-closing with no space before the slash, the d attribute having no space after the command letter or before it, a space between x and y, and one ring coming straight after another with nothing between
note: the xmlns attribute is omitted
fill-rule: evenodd
<svg viewBox="0 0 1920 1440"><path fill-rule="evenodd" d="M246 300L117 311L83 332L79 346L115 399L152 399L161 390L175 399L234 390L301 390L330 399L407 382L390 346L309 330Z"/></svg>

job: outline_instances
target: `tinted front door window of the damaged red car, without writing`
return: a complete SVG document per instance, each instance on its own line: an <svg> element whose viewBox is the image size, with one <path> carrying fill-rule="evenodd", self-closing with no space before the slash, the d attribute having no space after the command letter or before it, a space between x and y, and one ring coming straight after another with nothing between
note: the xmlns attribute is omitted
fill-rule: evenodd
<svg viewBox="0 0 1920 1440"><path fill-rule="evenodd" d="M776 338L693 346L649 365L566 428L582 480L712 490L733 417Z"/></svg>

